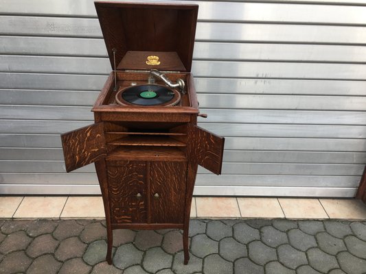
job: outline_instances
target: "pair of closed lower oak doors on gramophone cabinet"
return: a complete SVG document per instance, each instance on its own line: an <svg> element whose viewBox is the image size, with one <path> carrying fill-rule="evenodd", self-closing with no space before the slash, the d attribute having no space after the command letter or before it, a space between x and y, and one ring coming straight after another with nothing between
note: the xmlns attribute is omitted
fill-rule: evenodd
<svg viewBox="0 0 366 274"><path fill-rule="evenodd" d="M183 223L187 161L107 161L111 223Z"/></svg>

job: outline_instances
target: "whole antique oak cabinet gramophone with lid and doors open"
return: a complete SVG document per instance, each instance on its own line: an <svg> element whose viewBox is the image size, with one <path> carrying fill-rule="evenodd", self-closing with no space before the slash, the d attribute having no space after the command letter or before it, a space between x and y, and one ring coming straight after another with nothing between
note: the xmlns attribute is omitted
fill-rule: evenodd
<svg viewBox="0 0 366 274"><path fill-rule="evenodd" d="M197 126L192 54L198 5L95 2L112 71L95 123L62 134L67 172L95 163L108 249L113 229L183 229L198 164L220 174L224 138ZM176 239L180 240L180 239Z"/></svg>

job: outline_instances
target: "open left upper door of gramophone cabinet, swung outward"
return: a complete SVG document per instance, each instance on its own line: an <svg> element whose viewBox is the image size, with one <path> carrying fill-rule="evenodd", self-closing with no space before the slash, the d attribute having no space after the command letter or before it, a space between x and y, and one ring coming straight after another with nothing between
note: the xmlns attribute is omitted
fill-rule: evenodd
<svg viewBox="0 0 366 274"><path fill-rule="evenodd" d="M62 134L61 142L67 172L106 157L102 122Z"/></svg>

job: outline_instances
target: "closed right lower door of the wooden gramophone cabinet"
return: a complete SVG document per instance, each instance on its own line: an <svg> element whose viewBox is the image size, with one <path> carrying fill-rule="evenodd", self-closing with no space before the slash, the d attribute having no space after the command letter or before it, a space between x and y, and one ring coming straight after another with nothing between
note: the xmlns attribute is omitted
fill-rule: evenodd
<svg viewBox="0 0 366 274"><path fill-rule="evenodd" d="M187 162L150 162L151 223L183 223Z"/></svg>

